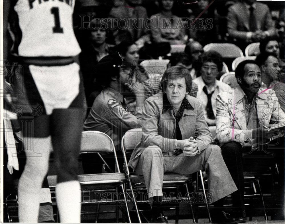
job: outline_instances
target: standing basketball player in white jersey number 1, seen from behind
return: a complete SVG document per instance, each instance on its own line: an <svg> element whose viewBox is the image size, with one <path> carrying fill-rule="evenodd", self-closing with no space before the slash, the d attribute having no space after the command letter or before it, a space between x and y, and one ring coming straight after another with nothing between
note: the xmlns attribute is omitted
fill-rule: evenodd
<svg viewBox="0 0 285 224"><path fill-rule="evenodd" d="M13 83L17 99L9 102L9 109L19 117L27 149L18 187L19 221L37 222L40 189L53 150L60 221L79 223L77 169L86 101L74 62L80 53L72 26L74 0L5 0L4 7L10 9L4 22L9 18L11 53L18 62L13 69L19 74Z"/></svg>

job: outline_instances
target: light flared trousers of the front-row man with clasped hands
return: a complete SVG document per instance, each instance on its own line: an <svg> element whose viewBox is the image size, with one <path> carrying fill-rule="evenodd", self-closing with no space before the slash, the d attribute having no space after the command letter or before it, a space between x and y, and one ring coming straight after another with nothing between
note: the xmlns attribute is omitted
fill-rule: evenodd
<svg viewBox="0 0 285 224"><path fill-rule="evenodd" d="M196 156L184 154L162 154L158 146L148 146L139 158L136 172L144 176L149 199L162 196L162 181L164 173L192 174L205 169L208 175L209 193L213 203L237 190L235 183L225 165L221 148L209 145ZM151 200L151 199L150 199Z"/></svg>

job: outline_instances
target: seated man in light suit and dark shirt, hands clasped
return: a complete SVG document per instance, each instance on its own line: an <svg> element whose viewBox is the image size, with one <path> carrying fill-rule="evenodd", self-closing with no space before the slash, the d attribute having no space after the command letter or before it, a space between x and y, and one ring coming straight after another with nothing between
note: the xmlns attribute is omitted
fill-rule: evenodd
<svg viewBox="0 0 285 224"><path fill-rule="evenodd" d="M205 169L211 203L219 207L213 221L237 223L223 211L220 199L237 190L206 124L202 103L187 93L190 72L174 66L162 77L162 92L146 99L141 145L135 147L129 166L144 176L152 203L152 223L167 223L162 215L162 181L166 172L192 174Z"/></svg>

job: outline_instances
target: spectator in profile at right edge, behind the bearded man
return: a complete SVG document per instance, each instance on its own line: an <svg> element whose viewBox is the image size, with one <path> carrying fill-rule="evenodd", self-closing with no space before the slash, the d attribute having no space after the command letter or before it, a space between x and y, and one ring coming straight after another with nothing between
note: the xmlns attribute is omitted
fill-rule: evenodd
<svg viewBox="0 0 285 224"><path fill-rule="evenodd" d="M266 88L275 91L280 107L285 112L285 63L278 60L275 51L259 54L255 61L261 68L261 81Z"/></svg>

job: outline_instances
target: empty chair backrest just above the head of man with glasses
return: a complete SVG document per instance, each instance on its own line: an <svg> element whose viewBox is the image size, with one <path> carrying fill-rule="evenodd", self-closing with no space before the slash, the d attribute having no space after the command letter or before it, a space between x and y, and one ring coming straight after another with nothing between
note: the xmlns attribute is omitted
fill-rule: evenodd
<svg viewBox="0 0 285 224"><path fill-rule="evenodd" d="M214 50L221 54L223 58L237 58L243 56L243 51L235 44L211 43L203 47L204 51Z"/></svg>

